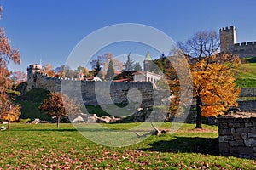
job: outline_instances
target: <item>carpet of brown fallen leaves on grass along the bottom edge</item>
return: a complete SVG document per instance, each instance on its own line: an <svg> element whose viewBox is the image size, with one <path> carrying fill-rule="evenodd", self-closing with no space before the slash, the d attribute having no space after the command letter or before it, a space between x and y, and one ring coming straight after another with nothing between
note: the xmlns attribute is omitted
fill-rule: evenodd
<svg viewBox="0 0 256 170"><path fill-rule="evenodd" d="M173 153L175 154L175 153ZM229 169L218 163L207 161L179 161L173 163L172 156L166 157L161 152L141 150L102 150L78 151L70 148L61 151L44 148L38 150L15 150L11 155L16 164L6 164L4 169L146 169L146 168L186 168L186 169ZM1 168L0 168L1 169Z"/></svg>

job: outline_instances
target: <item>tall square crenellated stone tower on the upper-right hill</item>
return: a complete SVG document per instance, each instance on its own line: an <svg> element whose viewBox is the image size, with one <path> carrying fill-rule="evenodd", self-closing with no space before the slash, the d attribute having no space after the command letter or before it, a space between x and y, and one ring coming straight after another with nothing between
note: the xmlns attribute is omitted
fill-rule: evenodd
<svg viewBox="0 0 256 170"><path fill-rule="evenodd" d="M224 53L233 53L236 43L235 26L223 27L219 29L220 51Z"/></svg>

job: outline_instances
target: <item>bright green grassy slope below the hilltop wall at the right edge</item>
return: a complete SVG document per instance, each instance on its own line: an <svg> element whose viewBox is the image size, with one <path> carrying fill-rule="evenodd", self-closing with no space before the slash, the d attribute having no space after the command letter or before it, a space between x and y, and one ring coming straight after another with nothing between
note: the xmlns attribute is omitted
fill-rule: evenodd
<svg viewBox="0 0 256 170"><path fill-rule="evenodd" d="M256 88L256 57L247 58L246 62L238 71L236 83L240 88Z"/></svg>

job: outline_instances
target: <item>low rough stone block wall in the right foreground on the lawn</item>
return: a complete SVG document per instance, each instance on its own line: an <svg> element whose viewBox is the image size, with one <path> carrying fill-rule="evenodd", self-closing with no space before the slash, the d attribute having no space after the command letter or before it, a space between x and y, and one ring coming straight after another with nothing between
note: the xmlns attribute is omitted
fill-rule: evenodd
<svg viewBox="0 0 256 170"><path fill-rule="evenodd" d="M256 160L256 117L218 119L219 153Z"/></svg>

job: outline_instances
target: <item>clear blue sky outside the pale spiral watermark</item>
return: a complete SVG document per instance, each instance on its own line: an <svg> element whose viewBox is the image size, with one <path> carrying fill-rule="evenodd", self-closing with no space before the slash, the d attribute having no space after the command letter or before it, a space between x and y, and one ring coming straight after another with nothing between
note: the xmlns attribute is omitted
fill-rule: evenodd
<svg viewBox="0 0 256 170"><path fill-rule="evenodd" d="M234 25L238 42L256 40L253 0L3 0L0 4L0 26L12 46L20 49L22 59L20 66L9 65L12 71L26 71L27 65L40 59L55 67L62 65L82 38L119 23L153 26L176 42L185 41L196 31Z"/></svg>

